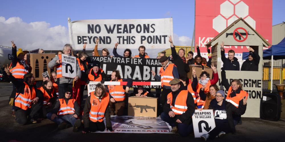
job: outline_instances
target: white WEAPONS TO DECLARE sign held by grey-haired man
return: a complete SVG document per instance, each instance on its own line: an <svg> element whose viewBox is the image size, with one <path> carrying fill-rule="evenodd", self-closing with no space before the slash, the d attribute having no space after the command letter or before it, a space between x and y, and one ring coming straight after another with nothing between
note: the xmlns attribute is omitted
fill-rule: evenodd
<svg viewBox="0 0 285 142"><path fill-rule="evenodd" d="M76 57L61 55L62 61L62 76L66 78L74 78L77 73Z"/></svg>

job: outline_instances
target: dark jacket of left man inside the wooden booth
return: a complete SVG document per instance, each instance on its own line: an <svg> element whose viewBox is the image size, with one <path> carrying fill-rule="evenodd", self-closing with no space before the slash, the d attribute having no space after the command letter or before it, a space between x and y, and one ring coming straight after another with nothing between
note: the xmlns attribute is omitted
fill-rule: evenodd
<svg viewBox="0 0 285 142"><path fill-rule="evenodd" d="M239 70L239 61L236 57L233 58L233 61L226 58L225 51L221 51L221 59L223 61L224 70Z"/></svg>

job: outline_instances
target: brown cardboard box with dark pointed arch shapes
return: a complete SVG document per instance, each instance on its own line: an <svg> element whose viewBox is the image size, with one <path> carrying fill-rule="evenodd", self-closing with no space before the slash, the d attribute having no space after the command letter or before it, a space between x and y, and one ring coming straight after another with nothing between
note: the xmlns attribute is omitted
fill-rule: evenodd
<svg viewBox="0 0 285 142"><path fill-rule="evenodd" d="M32 53L30 54L30 66L32 67L32 74L37 81L42 80L42 73L48 71L55 71L55 69L48 68L48 63L55 57L55 53Z"/></svg>

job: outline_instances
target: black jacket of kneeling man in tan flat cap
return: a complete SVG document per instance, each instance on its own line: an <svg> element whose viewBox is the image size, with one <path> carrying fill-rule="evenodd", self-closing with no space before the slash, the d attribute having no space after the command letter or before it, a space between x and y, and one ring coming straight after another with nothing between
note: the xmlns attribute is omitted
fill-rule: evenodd
<svg viewBox="0 0 285 142"><path fill-rule="evenodd" d="M172 91L172 105L174 106L175 104L175 100L177 95L180 93L182 89L179 88L177 91L173 92ZM175 115L175 117L173 118L174 121L176 121L177 119L179 119L183 124L189 125L192 123L192 115L195 111L195 105L194 105L194 99L192 97L192 94L190 92L188 92L187 94L187 99L186 99L186 105L187 105L187 110L185 113L183 114L177 114ZM167 100L163 106L163 111L168 114L169 111L172 111L170 109L170 104L167 103Z"/></svg>

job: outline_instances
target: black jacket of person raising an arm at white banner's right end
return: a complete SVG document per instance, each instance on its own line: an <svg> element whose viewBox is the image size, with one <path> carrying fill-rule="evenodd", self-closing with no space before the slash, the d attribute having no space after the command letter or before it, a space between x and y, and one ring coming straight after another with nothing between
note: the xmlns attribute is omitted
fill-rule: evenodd
<svg viewBox="0 0 285 142"><path fill-rule="evenodd" d="M190 71L189 65L187 63L184 63L183 60L179 57L174 47L171 48L171 55L173 59L173 63L177 66L177 70L179 73L179 76L187 76L187 73Z"/></svg>

